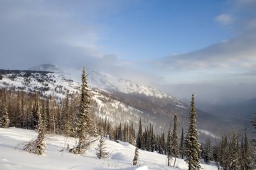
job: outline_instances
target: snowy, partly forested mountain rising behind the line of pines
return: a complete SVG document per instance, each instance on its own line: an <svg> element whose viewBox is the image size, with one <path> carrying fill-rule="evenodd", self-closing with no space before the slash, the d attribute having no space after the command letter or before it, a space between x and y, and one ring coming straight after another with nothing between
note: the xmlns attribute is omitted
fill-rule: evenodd
<svg viewBox="0 0 256 170"><path fill-rule="evenodd" d="M148 87L86 69L88 83L92 89L92 110L97 116L113 123L133 122L137 127L139 118L143 126L152 123L156 132L166 132L172 124L174 114L179 118L179 130L187 128L190 106L177 97L172 97L154 87ZM79 92L82 74L78 69L62 69L55 65L40 65L29 71L0 70L0 87L23 91L39 91L43 95L54 95L59 101L70 93ZM232 122L197 110L200 137L216 136Z"/></svg>

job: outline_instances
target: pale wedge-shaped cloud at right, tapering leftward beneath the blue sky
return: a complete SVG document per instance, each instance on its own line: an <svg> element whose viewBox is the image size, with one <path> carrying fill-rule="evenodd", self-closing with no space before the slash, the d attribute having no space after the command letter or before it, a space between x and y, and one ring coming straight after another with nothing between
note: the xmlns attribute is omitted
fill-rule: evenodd
<svg viewBox="0 0 256 170"><path fill-rule="evenodd" d="M252 6L256 6L256 1L236 1L228 10L232 11L231 14L222 13L216 17L216 21L234 26L234 36L229 40L192 52L166 56L156 61L157 65L178 71L253 69L256 64L256 11L251 10Z"/></svg>

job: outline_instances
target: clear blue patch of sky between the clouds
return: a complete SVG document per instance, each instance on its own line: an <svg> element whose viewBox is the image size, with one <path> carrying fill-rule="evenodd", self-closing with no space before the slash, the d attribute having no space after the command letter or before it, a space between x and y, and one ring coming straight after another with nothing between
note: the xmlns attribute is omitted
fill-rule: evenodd
<svg viewBox="0 0 256 170"><path fill-rule="evenodd" d="M121 58L162 58L209 46L230 36L214 21L223 1L141 1L103 17L110 51ZM127 48L129 47L129 48Z"/></svg>

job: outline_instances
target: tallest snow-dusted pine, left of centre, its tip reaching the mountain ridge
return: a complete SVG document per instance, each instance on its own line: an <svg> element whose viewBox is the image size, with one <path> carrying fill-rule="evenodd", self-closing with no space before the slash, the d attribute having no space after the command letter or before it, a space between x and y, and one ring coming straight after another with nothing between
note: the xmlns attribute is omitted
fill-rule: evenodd
<svg viewBox="0 0 256 170"><path fill-rule="evenodd" d="M71 148L70 152L75 154L83 154L90 146L88 141L88 134L92 130L92 120L90 118L90 93L86 81L86 71L83 69L82 86L81 86L81 100L79 105L79 113L77 114L76 128L77 136L79 138L78 144L75 148Z"/></svg>

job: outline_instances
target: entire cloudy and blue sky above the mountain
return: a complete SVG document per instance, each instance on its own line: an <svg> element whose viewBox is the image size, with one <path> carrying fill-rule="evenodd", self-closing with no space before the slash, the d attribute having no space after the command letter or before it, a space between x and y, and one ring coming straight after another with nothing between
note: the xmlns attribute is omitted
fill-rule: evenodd
<svg viewBox="0 0 256 170"><path fill-rule="evenodd" d="M0 1L0 68L97 69L199 102L256 97L256 1Z"/></svg>

